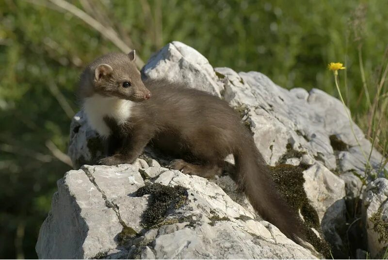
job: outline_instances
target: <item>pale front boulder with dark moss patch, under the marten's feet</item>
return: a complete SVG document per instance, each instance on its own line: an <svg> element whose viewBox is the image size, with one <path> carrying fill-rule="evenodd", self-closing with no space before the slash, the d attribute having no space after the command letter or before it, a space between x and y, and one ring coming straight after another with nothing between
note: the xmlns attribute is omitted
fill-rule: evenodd
<svg viewBox="0 0 388 260"><path fill-rule="evenodd" d="M315 258L213 182L141 169L85 165L66 173L40 232L39 258ZM147 181L145 172L157 178Z"/></svg>

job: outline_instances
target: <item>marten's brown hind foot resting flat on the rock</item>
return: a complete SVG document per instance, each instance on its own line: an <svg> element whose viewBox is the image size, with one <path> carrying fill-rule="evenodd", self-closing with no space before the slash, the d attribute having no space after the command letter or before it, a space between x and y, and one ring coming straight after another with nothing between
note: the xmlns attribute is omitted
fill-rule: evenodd
<svg viewBox="0 0 388 260"><path fill-rule="evenodd" d="M185 174L198 175L204 178L211 178L215 175L221 175L223 166L217 163L193 164L183 160L174 160L169 165L170 169L179 170Z"/></svg>

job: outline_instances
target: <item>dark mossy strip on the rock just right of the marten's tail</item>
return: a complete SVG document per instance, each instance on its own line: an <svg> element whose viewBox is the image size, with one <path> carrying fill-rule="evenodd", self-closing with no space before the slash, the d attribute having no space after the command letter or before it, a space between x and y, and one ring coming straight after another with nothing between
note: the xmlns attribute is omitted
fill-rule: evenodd
<svg viewBox="0 0 388 260"><path fill-rule="evenodd" d="M305 183L303 178L304 169L290 164L279 164L270 167L270 171L280 194L283 195L294 211L298 212L300 210L305 220L304 229L307 242L312 244L325 257L330 257L330 246L310 229L314 227L316 230L320 230L320 223L318 214L310 205L303 187Z"/></svg>

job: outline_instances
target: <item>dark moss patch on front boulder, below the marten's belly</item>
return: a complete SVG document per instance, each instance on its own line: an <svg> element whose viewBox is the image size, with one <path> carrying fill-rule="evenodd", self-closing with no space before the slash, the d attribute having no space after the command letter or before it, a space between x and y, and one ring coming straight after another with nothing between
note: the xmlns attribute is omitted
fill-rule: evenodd
<svg viewBox="0 0 388 260"><path fill-rule="evenodd" d="M143 212L141 225L152 228L161 223L169 210L180 208L187 201L187 189L182 186L146 184L135 192L136 196L150 194L148 207Z"/></svg>

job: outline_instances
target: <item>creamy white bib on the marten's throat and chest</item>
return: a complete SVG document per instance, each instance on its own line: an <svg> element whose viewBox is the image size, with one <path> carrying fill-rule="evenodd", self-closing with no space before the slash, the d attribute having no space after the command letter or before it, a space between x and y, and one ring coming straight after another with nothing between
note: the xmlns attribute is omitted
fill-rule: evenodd
<svg viewBox="0 0 388 260"><path fill-rule="evenodd" d="M85 98L83 102L89 125L102 137L108 137L111 134L111 129L103 118L109 116L114 118L119 125L124 124L130 117L132 106L132 101L117 97L103 97L98 94Z"/></svg>

